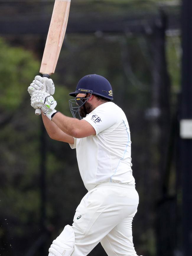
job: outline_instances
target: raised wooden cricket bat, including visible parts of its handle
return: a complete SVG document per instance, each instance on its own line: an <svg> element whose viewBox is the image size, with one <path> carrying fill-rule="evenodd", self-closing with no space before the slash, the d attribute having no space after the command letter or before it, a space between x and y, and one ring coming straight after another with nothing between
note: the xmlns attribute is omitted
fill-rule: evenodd
<svg viewBox="0 0 192 256"><path fill-rule="evenodd" d="M55 72L61 46L65 37L70 3L71 0L55 0L51 23L45 43L43 59L39 71L41 74L43 74L43 77L47 77L47 79L49 79L50 76ZM43 90L46 90L45 84ZM41 109L37 108L35 110L35 114L40 115Z"/></svg>

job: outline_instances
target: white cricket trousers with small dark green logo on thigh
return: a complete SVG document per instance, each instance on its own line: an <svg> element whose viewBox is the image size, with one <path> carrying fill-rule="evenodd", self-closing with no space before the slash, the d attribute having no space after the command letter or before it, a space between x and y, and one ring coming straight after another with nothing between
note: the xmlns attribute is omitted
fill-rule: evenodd
<svg viewBox="0 0 192 256"><path fill-rule="evenodd" d="M90 190L76 209L71 256L86 256L99 242L108 256L137 256L132 220L138 203L134 186L107 182Z"/></svg>

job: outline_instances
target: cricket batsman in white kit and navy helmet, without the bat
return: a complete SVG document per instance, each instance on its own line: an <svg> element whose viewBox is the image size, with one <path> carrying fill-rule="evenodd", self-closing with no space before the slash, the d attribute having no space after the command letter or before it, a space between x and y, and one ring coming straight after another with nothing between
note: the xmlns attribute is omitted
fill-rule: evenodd
<svg viewBox="0 0 192 256"><path fill-rule="evenodd" d="M69 93L73 118L56 110L51 79L36 76L28 88L31 106L41 108L43 123L53 140L76 149L79 171L87 194L53 241L48 256L86 256L100 242L108 256L138 256L132 221L139 196L131 169L131 138L123 110L113 103L107 79L84 76ZM46 82L46 92L42 90Z"/></svg>

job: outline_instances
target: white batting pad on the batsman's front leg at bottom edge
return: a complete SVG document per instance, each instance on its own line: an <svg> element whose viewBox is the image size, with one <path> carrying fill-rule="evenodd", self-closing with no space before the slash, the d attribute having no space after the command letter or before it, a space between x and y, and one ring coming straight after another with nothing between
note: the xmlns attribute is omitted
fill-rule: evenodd
<svg viewBox="0 0 192 256"><path fill-rule="evenodd" d="M48 256L70 256L74 251L75 234L71 226L66 225L61 234L53 241Z"/></svg>

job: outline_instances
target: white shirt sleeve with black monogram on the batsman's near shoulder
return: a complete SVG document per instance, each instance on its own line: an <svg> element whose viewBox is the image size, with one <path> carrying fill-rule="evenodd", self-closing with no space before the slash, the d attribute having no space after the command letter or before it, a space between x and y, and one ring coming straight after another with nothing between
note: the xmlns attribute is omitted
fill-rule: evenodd
<svg viewBox="0 0 192 256"><path fill-rule="evenodd" d="M100 108L95 108L95 110L84 117L83 120L92 125L97 135L117 123L119 121L119 117L117 111L109 107L102 106Z"/></svg>

